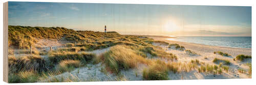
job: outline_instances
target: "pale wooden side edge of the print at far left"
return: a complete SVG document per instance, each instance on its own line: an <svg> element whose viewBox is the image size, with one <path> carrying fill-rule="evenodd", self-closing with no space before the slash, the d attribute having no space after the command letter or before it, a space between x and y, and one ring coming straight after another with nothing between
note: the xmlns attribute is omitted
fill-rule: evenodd
<svg viewBox="0 0 256 85"><path fill-rule="evenodd" d="M8 82L8 2L4 3L4 81Z"/></svg>

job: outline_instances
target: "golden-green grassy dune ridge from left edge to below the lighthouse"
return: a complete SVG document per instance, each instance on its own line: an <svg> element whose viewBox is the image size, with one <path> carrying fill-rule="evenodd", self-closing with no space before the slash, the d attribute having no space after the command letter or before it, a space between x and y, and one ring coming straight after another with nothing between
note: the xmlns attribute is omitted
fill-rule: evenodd
<svg viewBox="0 0 256 85"><path fill-rule="evenodd" d="M8 45L17 48L29 48L38 39L65 39L68 41L95 42L102 37L113 38L120 36L116 32L93 32L74 31L65 27L31 27L31 26L8 26ZM89 40L88 40L89 39Z"/></svg>

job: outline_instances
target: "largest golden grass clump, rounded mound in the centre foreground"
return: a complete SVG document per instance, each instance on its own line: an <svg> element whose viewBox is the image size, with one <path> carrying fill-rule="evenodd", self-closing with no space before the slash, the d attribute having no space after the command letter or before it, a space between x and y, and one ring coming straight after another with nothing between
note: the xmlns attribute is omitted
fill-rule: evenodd
<svg viewBox="0 0 256 85"><path fill-rule="evenodd" d="M126 45L115 45L108 52L103 53L98 59L114 73L119 73L121 69L135 68L139 63L147 63L146 59L132 50L131 46Z"/></svg>

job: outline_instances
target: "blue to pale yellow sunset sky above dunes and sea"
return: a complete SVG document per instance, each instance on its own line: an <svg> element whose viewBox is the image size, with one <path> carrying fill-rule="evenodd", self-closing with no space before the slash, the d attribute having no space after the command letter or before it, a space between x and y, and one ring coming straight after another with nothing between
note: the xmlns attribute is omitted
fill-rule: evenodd
<svg viewBox="0 0 256 85"><path fill-rule="evenodd" d="M251 36L251 7L9 2L8 24L123 35Z"/></svg>

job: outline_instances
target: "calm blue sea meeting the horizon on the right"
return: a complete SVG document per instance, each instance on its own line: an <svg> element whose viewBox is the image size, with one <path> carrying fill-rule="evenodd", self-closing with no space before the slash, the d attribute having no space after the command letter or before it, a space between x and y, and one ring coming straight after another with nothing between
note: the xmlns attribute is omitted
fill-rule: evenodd
<svg viewBox="0 0 256 85"><path fill-rule="evenodd" d="M251 48L251 37L176 37L168 40L212 46Z"/></svg>

